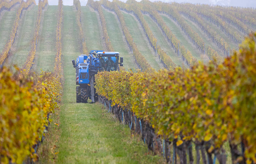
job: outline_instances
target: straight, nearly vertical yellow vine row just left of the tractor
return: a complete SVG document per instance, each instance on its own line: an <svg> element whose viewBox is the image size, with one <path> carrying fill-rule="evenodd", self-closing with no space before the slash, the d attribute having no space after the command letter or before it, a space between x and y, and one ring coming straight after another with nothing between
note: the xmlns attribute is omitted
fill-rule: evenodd
<svg viewBox="0 0 256 164"><path fill-rule="evenodd" d="M57 27L56 27L56 57L55 57L55 63L54 63L54 74L56 77L61 80L62 78L62 67L61 67L61 29L62 29L62 23L63 23L63 1L59 0L58 5L58 16L57 16Z"/></svg>

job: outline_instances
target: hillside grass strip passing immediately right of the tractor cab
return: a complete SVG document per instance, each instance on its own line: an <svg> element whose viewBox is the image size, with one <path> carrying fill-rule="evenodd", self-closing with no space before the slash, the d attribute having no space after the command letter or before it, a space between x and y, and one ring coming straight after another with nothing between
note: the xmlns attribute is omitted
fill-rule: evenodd
<svg viewBox="0 0 256 164"><path fill-rule="evenodd" d="M109 35L109 40L112 43L112 46L115 51L118 51L120 53L120 56L124 58L124 67L126 70L129 69L138 69L136 67L134 57L129 52L129 48L127 46L127 43L123 39L123 32L121 30L121 27L119 28L119 22L116 19L115 15L111 12L106 11L103 9L103 14L106 19L106 25Z"/></svg>

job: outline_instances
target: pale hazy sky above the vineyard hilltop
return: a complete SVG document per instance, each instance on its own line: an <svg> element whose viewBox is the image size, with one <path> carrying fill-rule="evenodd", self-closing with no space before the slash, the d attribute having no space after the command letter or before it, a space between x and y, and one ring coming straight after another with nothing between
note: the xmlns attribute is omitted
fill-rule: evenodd
<svg viewBox="0 0 256 164"><path fill-rule="evenodd" d="M38 0L35 0L38 3ZM112 0L110 0L112 1ZM121 0L126 1L126 0ZM137 0L140 1L140 0ZM158 1L158 0L150 0ZM256 0L161 0L163 2L178 2L178 3L200 3L222 6L240 6L256 8ZM58 5L58 0L48 0L49 5ZM82 6L87 4L87 0L80 0ZM73 5L73 0L63 0L63 5Z"/></svg>

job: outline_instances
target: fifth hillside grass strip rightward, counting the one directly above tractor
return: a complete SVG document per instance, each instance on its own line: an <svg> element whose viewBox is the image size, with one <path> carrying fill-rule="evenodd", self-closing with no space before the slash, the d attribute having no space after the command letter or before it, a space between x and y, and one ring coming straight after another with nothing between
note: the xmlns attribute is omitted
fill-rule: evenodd
<svg viewBox="0 0 256 164"><path fill-rule="evenodd" d="M176 36L178 40L180 40L181 44L187 48L192 54L194 58L197 60L201 60L204 63L208 63L209 58L207 56L204 56L199 50L196 49L195 46L193 46L193 43L191 43L185 33L181 30L180 26L178 26L176 23L174 23L169 17L166 15L161 15L163 20L165 21L167 27L170 28L170 30L173 32L173 34Z"/></svg>

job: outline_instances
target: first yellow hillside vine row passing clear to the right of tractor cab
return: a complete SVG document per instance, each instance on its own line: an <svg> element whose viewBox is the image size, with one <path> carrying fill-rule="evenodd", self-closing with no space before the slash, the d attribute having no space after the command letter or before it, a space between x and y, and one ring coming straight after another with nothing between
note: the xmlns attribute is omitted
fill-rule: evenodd
<svg viewBox="0 0 256 164"><path fill-rule="evenodd" d="M128 44L128 47L133 52L133 56L135 58L135 62L137 63L138 67L141 68L143 71L147 70L153 70L153 68L150 66L150 64L147 62L146 58L140 53L138 50L136 44L133 42L132 36L126 27L124 16L121 13L120 9L117 7L116 3L110 3L109 1L100 1L104 7L114 11L117 15L117 18L121 24L123 34L125 36L126 42Z"/></svg>

